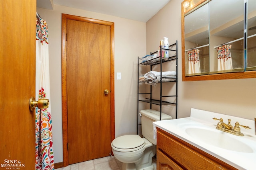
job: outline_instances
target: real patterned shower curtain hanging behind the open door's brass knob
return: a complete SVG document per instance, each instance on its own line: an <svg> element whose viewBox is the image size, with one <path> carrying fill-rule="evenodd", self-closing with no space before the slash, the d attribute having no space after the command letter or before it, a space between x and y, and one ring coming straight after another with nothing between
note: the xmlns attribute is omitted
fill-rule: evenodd
<svg viewBox="0 0 256 170"><path fill-rule="evenodd" d="M48 26L36 15L36 100L50 100ZM37 95L38 93L38 95ZM36 107L36 170L54 170L52 116L48 109Z"/></svg>

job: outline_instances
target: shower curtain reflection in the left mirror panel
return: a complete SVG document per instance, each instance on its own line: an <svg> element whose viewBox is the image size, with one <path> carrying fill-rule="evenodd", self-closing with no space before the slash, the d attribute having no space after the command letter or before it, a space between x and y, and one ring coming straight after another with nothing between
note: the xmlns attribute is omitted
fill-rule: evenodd
<svg viewBox="0 0 256 170"><path fill-rule="evenodd" d="M193 49L188 51L188 74L201 72L199 51L199 49Z"/></svg>

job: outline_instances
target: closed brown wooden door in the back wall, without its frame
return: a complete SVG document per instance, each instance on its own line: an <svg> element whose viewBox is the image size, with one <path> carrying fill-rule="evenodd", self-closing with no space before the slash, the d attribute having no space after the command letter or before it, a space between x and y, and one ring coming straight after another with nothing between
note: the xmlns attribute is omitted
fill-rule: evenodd
<svg viewBox="0 0 256 170"><path fill-rule="evenodd" d="M111 28L70 19L66 25L68 164L74 164L111 152Z"/></svg>

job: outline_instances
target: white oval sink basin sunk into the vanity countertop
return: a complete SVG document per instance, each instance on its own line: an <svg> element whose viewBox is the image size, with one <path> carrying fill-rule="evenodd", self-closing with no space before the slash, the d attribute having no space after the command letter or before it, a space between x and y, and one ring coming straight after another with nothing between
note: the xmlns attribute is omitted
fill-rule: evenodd
<svg viewBox="0 0 256 170"><path fill-rule="evenodd" d="M206 127L187 127L186 133L195 140L235 152L252 153L254 150L246 143L231 137L226 132Z"/></svg>

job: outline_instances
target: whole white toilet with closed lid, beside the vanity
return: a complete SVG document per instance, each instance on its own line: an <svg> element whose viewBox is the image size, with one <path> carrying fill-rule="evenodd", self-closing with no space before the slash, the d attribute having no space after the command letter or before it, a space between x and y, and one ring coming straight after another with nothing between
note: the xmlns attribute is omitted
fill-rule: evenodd
<svg viewBox="0 0 256 170"><path fill-rule="evenodd" d="M153 109L140 111L142 135L124 135L117 137L111 143L114 156L122 164L122 170L154 170L152 157L156 154L156 139L154 139L153 122L159 121L160 112ZM162 120L172 119L162 113Z"/></svg>

